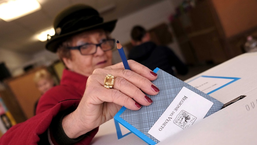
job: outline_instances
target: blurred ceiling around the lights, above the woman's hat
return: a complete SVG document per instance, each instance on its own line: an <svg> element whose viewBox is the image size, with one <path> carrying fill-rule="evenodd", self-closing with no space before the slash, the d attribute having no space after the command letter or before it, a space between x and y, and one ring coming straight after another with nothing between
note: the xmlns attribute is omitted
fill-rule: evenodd
<svg viewBox="0 0 257 145"><path fill-rule="evenodd" d="M25 0L24 0L25 1ZM118 19L161 0L38 0L42 9L5 22L0 19L0 49L34 54L45 49L45 43L33 36L52 27L54 17L69 5L84 3L102 12L105 21ZM115 8L107 10L109 7ZM106 11L107 10L107 11Z"/></svg>

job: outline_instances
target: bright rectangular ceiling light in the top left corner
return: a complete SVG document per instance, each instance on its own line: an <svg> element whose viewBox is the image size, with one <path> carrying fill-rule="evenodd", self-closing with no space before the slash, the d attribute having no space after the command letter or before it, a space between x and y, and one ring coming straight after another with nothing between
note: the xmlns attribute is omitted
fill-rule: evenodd
<svg viewBox="0 0 257 145"><path fill-rule="evenodd" d="M0 19L10 22L40 9L37 0L8 0L0 4Z"/></svg>

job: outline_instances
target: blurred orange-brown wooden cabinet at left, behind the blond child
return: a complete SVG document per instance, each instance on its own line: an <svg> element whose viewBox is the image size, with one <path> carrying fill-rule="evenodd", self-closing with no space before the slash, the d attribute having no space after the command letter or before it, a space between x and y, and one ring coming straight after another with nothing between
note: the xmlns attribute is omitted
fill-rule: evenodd
<svg viewBox="0 0 257 145"><path fill-rule="evenodd" d="M0 94L17 123L34 116L35 103L41 97L41 93L35 85L34 76L41 69L49 71L55 85L59 84L64 69L64 65L60 61L54 62L48 67L32 68L24 74L4 80L6 88L0 90Z"/></svg>

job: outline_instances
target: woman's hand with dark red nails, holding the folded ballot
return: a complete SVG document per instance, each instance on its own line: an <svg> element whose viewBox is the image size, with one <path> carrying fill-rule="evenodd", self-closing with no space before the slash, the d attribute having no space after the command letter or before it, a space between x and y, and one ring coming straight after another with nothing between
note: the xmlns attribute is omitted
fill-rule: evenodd
<svg viewBox="0 0 257 145"><path fill-rule="evenodd" d="M139 110L141 105L152 103L143 92L158 94L159 89L151 83L157 74L138 62L128 62L131 70L125 70L121 62L98 68L89 76L78 108L63 119L64 132L69 138L77 138L112 119L122 106ZM110 89L104 87L107 74L112 74L115 79Z"/></svg>

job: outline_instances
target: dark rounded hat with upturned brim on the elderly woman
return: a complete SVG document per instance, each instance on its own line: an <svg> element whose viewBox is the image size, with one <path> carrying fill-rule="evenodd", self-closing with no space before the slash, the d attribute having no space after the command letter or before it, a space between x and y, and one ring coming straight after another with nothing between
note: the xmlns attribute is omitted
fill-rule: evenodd
<svg viewBox="0 0 257 145"><path fill-rule="evenodd" d="M47 40L46 48L56 52L58 46L69 36L74 34L102 28L112 32L117 20L103 22L97 10L84 5L76 4L61 11L54 20L55 35Z"/></svg>

